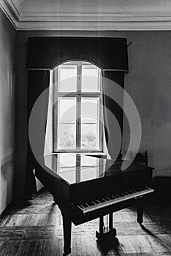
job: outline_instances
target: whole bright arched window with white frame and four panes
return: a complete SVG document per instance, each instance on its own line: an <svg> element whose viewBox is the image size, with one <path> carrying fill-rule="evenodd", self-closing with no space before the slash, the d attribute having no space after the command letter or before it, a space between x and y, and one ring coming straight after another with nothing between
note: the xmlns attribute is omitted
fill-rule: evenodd
<svg viewBox="0 0 171 256"><path fill-rule="evenodd" d="M86 61L56 68L53 151L102 151L101 69Z"/></svg>

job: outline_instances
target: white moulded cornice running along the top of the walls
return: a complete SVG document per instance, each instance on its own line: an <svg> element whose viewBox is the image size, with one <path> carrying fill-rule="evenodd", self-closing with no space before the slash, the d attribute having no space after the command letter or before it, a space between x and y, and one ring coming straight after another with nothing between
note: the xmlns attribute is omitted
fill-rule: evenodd
<svg viewBox="0 0 171 256"><path fill-rule="evenodd" d="M171 12L21 12L12 0L0 0L0 7L17 30L171 30Z"/></svg>

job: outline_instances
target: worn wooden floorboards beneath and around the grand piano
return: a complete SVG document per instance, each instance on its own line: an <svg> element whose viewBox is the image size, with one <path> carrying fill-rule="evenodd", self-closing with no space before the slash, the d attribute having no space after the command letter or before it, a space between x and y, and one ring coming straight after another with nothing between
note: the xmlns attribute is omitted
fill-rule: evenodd
<svg viewBox="0 0 171 256"><path fill-rule="evenodd" d="M136 222L134 208L114 214L117 238L99 247L95 230L99 220L75 227L72 225L72 254L95 255L171 255L170 206L145 207L144 227ZM46 191L28 203L15 203L0 219L1 256L54 256L63 252L63 228L58 206Z"/></svg>

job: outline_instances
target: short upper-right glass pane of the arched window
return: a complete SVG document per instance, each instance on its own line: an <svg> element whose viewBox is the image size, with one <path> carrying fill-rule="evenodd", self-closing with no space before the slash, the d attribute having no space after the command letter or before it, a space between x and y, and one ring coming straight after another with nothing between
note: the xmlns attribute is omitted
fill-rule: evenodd
<svg viewBox="0 0 171 256"><path fill-rule="evenodd" d="M82 66L82 91L99 91L99 69L92 65Z"/></svg>

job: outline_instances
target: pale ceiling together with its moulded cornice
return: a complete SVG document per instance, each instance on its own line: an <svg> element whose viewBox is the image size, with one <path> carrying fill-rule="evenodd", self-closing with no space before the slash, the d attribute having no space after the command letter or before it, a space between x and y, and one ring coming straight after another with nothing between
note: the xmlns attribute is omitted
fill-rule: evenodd
<svg viewBox="0 0 171 256"><path fill-rule="evenodd" d="M18 30L171 30L171 0L0 0Z"/></svg>

